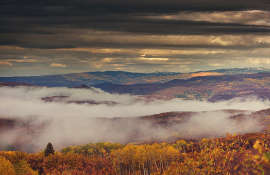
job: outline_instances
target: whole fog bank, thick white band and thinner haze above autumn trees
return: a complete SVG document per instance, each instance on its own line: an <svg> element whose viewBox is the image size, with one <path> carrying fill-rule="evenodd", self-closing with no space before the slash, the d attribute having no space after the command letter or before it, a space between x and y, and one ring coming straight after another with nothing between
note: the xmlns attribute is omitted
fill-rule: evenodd
<svg viewBox="0 0 270 175"><path fill-rule="evenodd" d="M42 99L53 96L57 97L51 101ZM20 142L23 150L33 152L49 141L61 148L107 140L128 143L151 138L168 139L172 132L179 137L186 133L191 139L223 136L226 132L253 132L262 129L253 127L255 120L241 121L237 125L228 117L241 113L248 115L269 106L269 100L256 98L216 103L180 99L160 101L110 94L97 88L0 87L0 117L15 120L10 127L0 128L0 140L3 140L0 146L10 148ZM190 112L165 113L170 111ZM151 117L159 113L164 114ZM26 148L23 142L32 146Z"/></svg>

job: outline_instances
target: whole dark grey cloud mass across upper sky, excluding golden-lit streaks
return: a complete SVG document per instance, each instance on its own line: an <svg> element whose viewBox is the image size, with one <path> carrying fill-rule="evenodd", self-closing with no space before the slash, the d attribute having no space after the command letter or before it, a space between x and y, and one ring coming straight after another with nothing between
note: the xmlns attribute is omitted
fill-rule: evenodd
<svg viewBox="0 0 270 175"><path fill-rule="evenodd" d="M0 4L0 45L26 48L57 49L91 47L91 45L122 47L115 42L85 41L80 35L87 35L87 31L80 34L76 29L113 31L130 35L268 35L270 33L270 27L262 25L146 18L146 16L176 14L180 11L265 10L269 7L267 0L257 0L256 3L250 0L230 2L227 0L2 0ZM77 35L73 35L74 33ZM132 43L128 46L144 47ZM268 44L262 47L265 46L268 47ZM148 47L159 46L151 43ZM182 46L176 44L174 47Z"/></svg>

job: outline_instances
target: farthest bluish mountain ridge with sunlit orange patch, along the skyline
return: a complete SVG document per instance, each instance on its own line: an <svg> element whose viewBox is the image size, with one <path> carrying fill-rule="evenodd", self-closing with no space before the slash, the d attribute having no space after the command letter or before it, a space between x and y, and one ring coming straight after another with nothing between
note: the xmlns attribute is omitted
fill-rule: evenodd
<svg viewBox="0 0 270 175"><path fill-rule="evenodd" d="M266 68L234 68L205 70L190 73L181 72L153 72L134 73L126 71L95 71L82 73L68 73L43 76L16 76L0 77L0 82L28 83L37 86L48 87L75 87L82 84L92 86L100 83L114 83L119 85L135 84L159 84L173 79L189 79L197 76L208 75L234 75L234 74L254 74L259 72L270 72Z"/></svg>

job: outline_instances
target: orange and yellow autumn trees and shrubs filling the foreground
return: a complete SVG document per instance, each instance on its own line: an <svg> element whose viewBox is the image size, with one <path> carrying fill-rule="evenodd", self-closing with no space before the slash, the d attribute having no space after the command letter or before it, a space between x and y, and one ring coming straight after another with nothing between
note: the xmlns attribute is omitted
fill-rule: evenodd
<svg viewBox="0 0 270 175"><path fill-rule="evenodd" d="M44 152L0 152L0 175L269 175L270 133L199 142L89 143Z"/></svg>

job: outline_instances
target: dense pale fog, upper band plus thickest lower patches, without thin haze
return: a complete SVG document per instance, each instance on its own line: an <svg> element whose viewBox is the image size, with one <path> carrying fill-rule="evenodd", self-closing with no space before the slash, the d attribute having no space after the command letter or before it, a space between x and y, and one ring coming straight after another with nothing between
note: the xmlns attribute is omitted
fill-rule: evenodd
<svg viewBox="0 0 270 175"><path fill-rule="evenodd" d="M59 101L45 102L42 97L69 96ZM89 105L87 103L67 103L70 101L113 101L116 105ZM143 97L128 94L110 94L100 89L75 88L36 88L36 87L0 87L0 117L29 119L34 116L35 124L49 121L42 132L33 136L32 142L43 148L49 141L58 148L71 144L84 144L91 141L112 140L125 142L125 139L139 130L145 133L166 133L162 128L153 127L151 123L124 123L121 129L113 128L110 120L91 120L89 118L139 117L169 111L213 111L220 109L261 110L270 107L270 101L253 99L232 99L229 101L209 103L206 101L148 101ZM218 132L220 123L226 131L236 131L235 126L225 118L231 114L212 112L207 115L192 117L190 126L205 127L209 132ZM97 122L98 121L98 122ZM119 121L121 122L121 121ZM188 125L188 123L186 123ZM181 130L181 125L179 125ZM224 132L224 128L220 132ZM247 128L253 131L253 128ZM33 131L34 132L34 131ZM20 136L19 129L0 133L0 139L12 144ZM27 136L24 136L27 138ZM102 138L102 139L101 139Z"/></svg>

